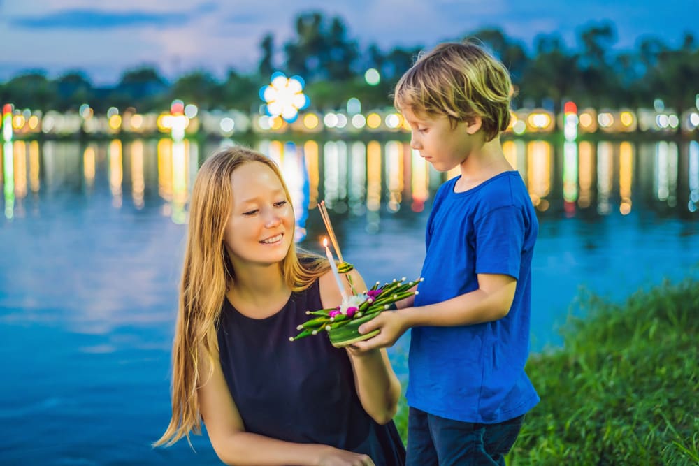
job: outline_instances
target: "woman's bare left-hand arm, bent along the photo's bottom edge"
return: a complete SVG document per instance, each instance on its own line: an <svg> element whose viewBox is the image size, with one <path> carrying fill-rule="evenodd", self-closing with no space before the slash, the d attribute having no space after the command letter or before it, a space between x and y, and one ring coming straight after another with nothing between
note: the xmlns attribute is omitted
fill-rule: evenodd
<svg viewBox="0 0 699 466"><path fill-rule="evenodd" d="M200 361L200 380L197 388L199 409L213 449L226 465L366 465L374 463L366 455L336 449L320 444L296 444L245 432L243 420L233 402L224 378L218 354L209 376L209 363L204 353Z"/></svg>

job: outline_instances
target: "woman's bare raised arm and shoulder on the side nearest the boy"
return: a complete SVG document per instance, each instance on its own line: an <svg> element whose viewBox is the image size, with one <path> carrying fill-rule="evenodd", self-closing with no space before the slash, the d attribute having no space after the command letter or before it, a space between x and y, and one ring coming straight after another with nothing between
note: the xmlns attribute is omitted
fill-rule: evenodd
<svg viewBox="0 0 699 466"><path fill-rule="evenodd" d="M366 284L364 284L359 272L352 270L349 275L352 276L354 290L357 293L366 290ZM319 281L323 307L340 305L342 296L332 273L326 273L320 277ZM343 280L343 283L345 282L346 280ZM345 291L348 295L352 294L349 284L345 286ZM359 353L354 351L352 347L348 347L347 354L350 363L352 363L354 386L362 407L377 423L385 424L391 421L398 409L401 382L398 381L398 377L391 367L386 350L377 349Z"/></svg>

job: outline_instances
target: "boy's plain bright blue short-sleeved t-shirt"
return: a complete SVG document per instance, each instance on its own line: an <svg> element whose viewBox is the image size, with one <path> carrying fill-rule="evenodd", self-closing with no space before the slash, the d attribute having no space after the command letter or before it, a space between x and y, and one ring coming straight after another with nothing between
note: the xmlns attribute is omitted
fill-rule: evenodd
<svg viewBox="0 0 699 466"><path fill-rule="evenodd" d="M529 352L531 259L538 221L517 171L461 193L442 184L427 223L427 254L415 306L478 289L477 274L517 279L512 307L497 321L412 328L408 405L444 418L499 423L539 401L524 373Z"/></svg>

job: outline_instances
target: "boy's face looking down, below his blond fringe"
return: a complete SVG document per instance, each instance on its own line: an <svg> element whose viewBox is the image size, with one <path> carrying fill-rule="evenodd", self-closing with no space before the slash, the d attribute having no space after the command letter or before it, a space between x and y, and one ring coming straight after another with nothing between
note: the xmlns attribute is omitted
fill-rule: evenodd
<svg viewBox="0 0 699 466"><path fill-rule="evenodd" d="M480 129L480 124L478 128L466 122L454 126L446 115L416 115L408 108L403 117L412 132L410 147L439 171L451 170L466 160L476 143L473 134Z"/></svg>

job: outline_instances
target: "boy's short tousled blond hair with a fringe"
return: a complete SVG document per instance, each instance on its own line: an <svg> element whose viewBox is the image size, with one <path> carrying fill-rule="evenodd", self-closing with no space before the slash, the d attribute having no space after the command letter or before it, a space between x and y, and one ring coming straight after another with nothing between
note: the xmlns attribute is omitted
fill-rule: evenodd
<svg viewBox="0 0 699 466"><path fill-rule="evenodd" d="M510 73L472 41L442 43L419 54L396 85L394 105L415 115L446 115L455 126L478 116L486 140L510 125Z"/></svg>

